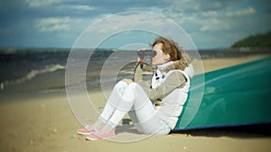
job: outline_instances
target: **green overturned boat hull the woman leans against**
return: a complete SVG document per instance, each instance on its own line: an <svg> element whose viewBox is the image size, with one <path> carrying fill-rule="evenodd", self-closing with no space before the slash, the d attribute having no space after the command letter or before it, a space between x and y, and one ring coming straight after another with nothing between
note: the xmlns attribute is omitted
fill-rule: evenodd
<svg viewBox="0 0 271 152"><path fill-rule="evenodd" d="M191 93L174 130L270 123L269 66L271 58L264 58L194 76Z"/></svg>

